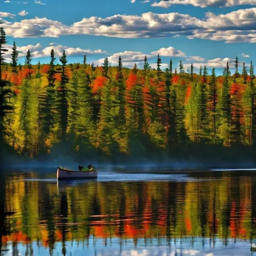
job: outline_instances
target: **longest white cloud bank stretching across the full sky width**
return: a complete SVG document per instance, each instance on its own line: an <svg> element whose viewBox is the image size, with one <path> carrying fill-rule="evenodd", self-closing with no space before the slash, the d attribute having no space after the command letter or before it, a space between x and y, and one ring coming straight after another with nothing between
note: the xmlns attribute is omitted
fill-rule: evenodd
<svg viewBox="0 0 256 256"><path fill-rule="evenodd" d="M13 37L59 37L71 34L93 34L112 37L166 37L186 36L224 40L225 42L256 42L256 8L239 9L215 15L206 12L199 19L177 12L141 15L113 15L106 18L88 17L65 25L47 18L23 19L3 25Z"/></svg>

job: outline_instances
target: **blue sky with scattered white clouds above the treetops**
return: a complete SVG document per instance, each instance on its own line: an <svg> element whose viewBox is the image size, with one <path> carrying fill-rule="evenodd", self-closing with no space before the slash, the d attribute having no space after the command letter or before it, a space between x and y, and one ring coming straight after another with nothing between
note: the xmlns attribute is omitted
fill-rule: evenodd
<svg viewBox="0 0 256 256"><path fill-rule="evenodd" d="M0 0L0 21L20 62L28 48L33 63L48 62L52 47L69 62L86 54L115 65L121 55L124 66L141 66L146 54L154 67L159 53L163 68L172 58L218 73L235 56L256 58L256 0Z"/></svg>

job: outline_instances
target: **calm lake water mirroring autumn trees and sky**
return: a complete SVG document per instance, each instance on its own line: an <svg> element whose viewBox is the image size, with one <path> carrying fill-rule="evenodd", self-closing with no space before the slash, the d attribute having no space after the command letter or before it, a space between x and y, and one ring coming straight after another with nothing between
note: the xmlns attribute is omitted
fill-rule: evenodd
<svg viewBox="0 0 256 256"><path fill-rule="evenodd" d="M256 171L161 173L9 171L1 254L256 255Z"/></svg>

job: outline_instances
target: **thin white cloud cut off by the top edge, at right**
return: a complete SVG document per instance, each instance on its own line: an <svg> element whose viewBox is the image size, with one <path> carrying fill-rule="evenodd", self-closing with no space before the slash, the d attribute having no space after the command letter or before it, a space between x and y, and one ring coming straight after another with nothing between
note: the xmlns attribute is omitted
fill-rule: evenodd
<svg viewBox="0 0 256 256"><path fill-rule="evenodd" d="M256 0L161 0L155 1L151 4L153 7L163 7L168 8L174 4L185 4L199 6L202 8L209 6L217 7L230 7L236 5L256 5Z"/></svg>

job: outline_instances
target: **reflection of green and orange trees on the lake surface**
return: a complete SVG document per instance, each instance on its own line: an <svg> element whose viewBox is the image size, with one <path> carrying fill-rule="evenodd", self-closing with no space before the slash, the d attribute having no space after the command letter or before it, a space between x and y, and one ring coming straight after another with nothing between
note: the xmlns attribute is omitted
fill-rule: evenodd
<svg viewBox="0 0 256 256"><path fill-rule="evenodd" d="M11 190L10 190L11 189ZM12 191L12 193L10 193ZM255 236L255 184L224 175L205 182L84 182L79 186L39 181L5 184L7 240L40 241L53 254L56 241L88 241L90 235L176 239ZM4 240L4 239L3 239ZM149 241L148 240L148 241Z"/></svg>

